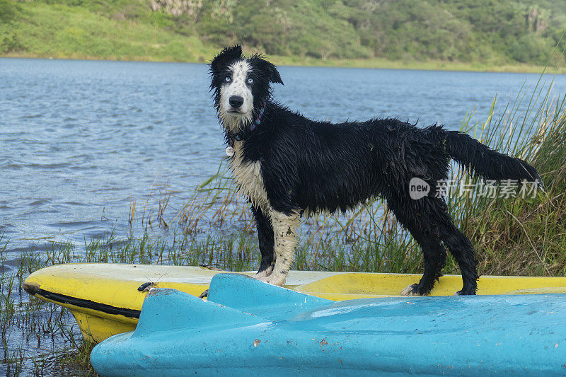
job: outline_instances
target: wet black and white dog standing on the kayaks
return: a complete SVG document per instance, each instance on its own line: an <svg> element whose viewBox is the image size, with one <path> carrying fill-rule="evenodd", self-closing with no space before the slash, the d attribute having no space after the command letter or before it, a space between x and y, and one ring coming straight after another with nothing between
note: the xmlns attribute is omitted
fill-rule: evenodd
<svg viewBox="0 0 566 377"><path fill-rule="evenodd" d="M484 178L529 180L542 187L525 161L439 125L419 129L397 119L308 120L272 100L271 84L283 83L277 68L260 55L244 57L240 46L222 50L210 74L233 178L257 221L262 260L256 277L264 282L284 284L294 260L299 216L346 211L384 197L424 254L422 279L401 294L431 291L446 263L444 247L461 269L463 289L456 294L475 294L472 244L454 226L444 199L434 195L437 182L448 175L449 161ZM412 178L427 182L429 194L412 199Z"/></svg>

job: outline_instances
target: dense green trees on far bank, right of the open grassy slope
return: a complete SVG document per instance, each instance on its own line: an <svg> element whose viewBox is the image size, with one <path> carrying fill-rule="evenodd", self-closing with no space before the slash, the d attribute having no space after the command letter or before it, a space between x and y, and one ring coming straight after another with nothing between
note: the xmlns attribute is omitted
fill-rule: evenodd
<svg viewBox="0 0 566 377"><path fill-rule="evenodd" d="M544 63L566 28L566 3L513 0L238 0L192 8L179 28L219 45L327 58ZM164 9L167 10L165 6ZM196 28L192 28L196 26Z"/></svg>

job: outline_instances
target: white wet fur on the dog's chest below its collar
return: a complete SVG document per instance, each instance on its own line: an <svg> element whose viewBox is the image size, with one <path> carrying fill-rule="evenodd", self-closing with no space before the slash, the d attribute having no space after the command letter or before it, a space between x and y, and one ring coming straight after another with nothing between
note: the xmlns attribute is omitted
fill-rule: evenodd
<svg viewBox="0 0 566 377"><path fill-rule="evenodd" d="M234 155L230 160L230 167L239 190L250 199L255 207L260 207L265 213L269 213L270 205L263 185L260 161L246 161L245 163L242 161L242 141L234 141L233 149Z"/></svg>

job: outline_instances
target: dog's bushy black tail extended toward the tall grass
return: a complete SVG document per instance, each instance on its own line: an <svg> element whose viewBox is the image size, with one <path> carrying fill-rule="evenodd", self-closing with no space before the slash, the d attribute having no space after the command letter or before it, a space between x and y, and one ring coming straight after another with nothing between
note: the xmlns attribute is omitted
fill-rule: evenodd
<svg viewBox="0 0 566 377"><path fill-rule="evenodd" d="M544 190L543 180L535 168L520 158L507 156L481 144L468 134L445 131L446 153L461 166L467 166L489 180L527 180Z"/></svg>

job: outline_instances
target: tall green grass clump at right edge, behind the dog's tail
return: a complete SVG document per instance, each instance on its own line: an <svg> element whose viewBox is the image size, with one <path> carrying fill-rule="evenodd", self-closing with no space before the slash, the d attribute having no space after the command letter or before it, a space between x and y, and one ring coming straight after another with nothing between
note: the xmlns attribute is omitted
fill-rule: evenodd
<svg viewBox="0 0 566 377"><path fill-rule="evenodd" d="M478 201L467 231L484 257L485 274L566 274L566 98L550 99L543 90L538 97L540 105L529 103L525 116L509 116L493 129L509 129L515 141L504 148L538 169L547 192ZM497 134L493 139L504 142Z"/></svg>

